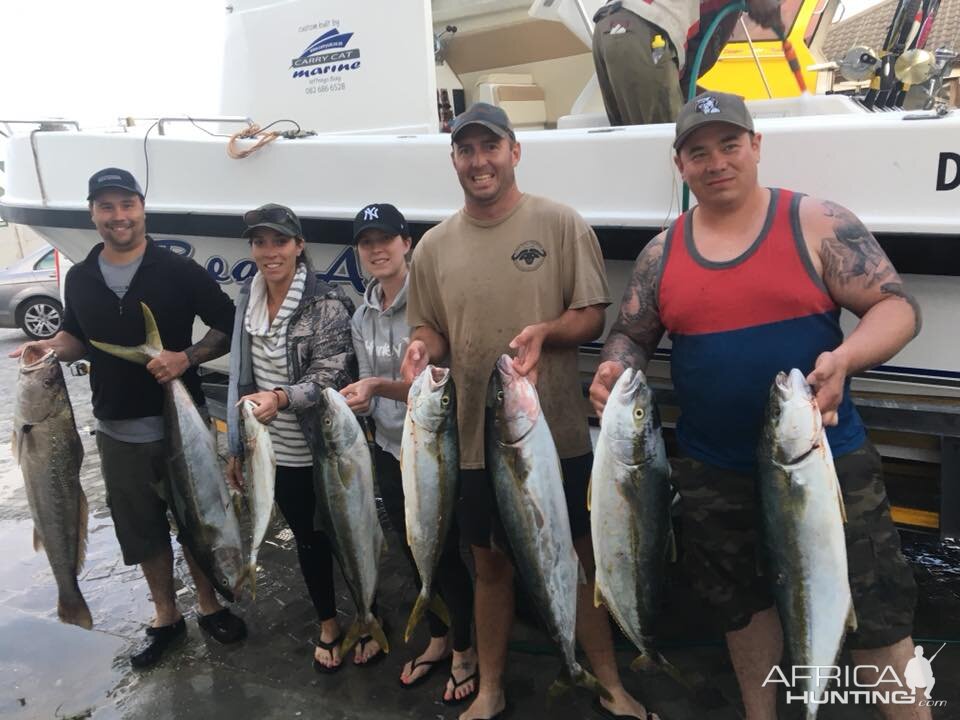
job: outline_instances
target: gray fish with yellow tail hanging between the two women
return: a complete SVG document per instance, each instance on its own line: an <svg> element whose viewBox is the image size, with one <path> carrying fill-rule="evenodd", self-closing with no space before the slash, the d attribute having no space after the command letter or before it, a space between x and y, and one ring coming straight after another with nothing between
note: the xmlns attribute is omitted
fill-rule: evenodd
<svg viewBox="0 0 960 720"><path fill-rule="evenodd" d="M347 401L333 388L323 389L318 412L323 452L313 464L316 524L329 536L357 606L357 619L347 630L340 653L345 654L364 635L389 652L383 628L370 610L377 592L383 530L377 518L373 459L366 435Z"/></svg>

